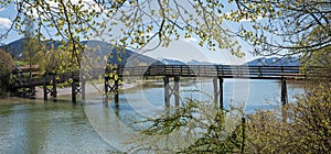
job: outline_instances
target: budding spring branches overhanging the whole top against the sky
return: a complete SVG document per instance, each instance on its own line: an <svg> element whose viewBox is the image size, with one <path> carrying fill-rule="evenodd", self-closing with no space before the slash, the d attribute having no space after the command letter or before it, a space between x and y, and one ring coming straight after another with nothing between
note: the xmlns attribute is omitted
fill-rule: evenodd
<svg viewBox="0 0 331 154"><path fill-rule="evenodd" d="M77 54L84 50L81 40L95 37L118 47L139 50L153 40L167 46L172 40L194 36L211 51L229 48L237 56L243 53L234 35L254 45L258 55L313 53L329 47L331 42L331 2L324 0L0 1L4 7L11 3L18 10L12 29L23 34L29 26L23 19L35 22L36 37L63 38L71 46L67 50L72 62L82 59ZM226 7L231 6L235 8L228 11ZM224 21L242 26L229 30L223 26Z"/></svg>

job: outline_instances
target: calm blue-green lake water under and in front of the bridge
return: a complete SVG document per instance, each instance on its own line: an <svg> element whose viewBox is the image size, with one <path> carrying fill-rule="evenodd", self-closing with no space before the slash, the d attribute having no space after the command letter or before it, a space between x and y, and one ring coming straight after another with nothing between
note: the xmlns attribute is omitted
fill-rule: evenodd
<svg viewBox="0 0 331 154"><path fill-rule="evenodd" d="M130 125L154 116L164 107L162 82L149 82L124 90L119 108L104 98L89 95L84 106L70 100L56 102L26 99L0 100L0 153L114 153L126 151L122 143L137 133ZM287 84L289 102L305 92L299 84ZM181 100L192 98L212 101L211 79L182 81ZM202 92L203 91L203 92ZM70 97L68 97L70 98ZM172 97L173 99L173 97ZM184 102L184 101L183 101ZM173 106L173 100L171 102ZM255 109L280 106L278 80L224 80L224 107L244 107L246 113ZM143 127L143 125L142 125Z"/></svg>

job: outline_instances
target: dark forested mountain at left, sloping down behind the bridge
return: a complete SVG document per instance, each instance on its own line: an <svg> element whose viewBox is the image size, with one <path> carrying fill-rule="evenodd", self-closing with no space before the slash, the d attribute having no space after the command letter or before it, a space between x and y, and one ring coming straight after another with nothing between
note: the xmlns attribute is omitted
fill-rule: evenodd
<svg viewBox="0 0 331 154"><path fill-rule="evenodd" d="M0 46L0 50L7 51L9 54L13 56L13 58L19 59L22 57L24 40L25 38L20 38L7 45ZM121 65L128 64L130 66L137 66L137 65L151 65L158 62L154 58L141 54L137 54L130 50L124 50L124 52L118 53L117 48L115 48L114 45L102 41L83 41L81 43L87 46L88 52L86 53L90 54L89 56L104 57L104 56L113 55L113 57L108 58L108 63L111 64L121 64ZM53 45L55 48L61 45L61 43L56 41L47 41L44 42L44 44L46 48L49 48L51 45ZM120 58L117 58L117 55L119 55Z"/></svg>

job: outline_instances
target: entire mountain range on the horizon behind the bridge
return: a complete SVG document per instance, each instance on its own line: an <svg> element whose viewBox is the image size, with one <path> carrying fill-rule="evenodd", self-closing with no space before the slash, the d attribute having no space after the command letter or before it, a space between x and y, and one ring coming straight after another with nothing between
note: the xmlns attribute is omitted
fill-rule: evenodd
<svg viewBox="0 0 331 154"><path fill-rule="evenodd" d="M11 54L15 59L22 58L23 53L23 42L24 38L17 40L7 45L0 46L0 50L7 51ZM61 43L56 41L44 42L46 48L53 45L57 47ZM121 64L129 66L149 66L149 65L215 65L209 62L199 62L196 59L191 59L190 62L182 62L179 59L163 58L157 61L152 57L145 56L138 53L135 53L130 50L125 50L120 54L118 54L117 50L110 43L102 42L102 41L83 41L82 44L87 45L89 51L88 53L93 53L95 56L104 57L108 55L113 55L108 58L108 63L111 64ZM117 55L120 58L117 58ZM121 61L119 61L121 59ZM300 66L300 62L298 57L260 57L253 59L246 63L249 66Z"/></svg>

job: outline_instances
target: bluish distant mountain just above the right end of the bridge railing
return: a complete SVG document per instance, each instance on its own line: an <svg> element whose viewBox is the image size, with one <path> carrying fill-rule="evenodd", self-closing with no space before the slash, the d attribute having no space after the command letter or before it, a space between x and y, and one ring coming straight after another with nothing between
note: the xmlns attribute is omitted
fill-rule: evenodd
<svg viewBox="0 0 331 154"><path fill-rule="evenodd" d="M246 64L248 66L300 66L298 57L260 57Z"/></svg>

